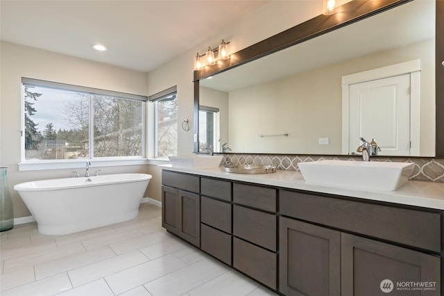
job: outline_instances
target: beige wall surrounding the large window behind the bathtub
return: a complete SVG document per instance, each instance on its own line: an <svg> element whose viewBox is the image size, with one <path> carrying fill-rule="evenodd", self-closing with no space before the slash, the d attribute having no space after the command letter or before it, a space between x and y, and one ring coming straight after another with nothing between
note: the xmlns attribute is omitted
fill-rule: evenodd
<svg viewBox="0 0 444 296"><path fill-rule="evenodd" d="M147 74L9 42L1 42L0 49L0 165L8 167L14 216L26 217L30 213L13 186L26 181L72 176L72 169L19 172L22 77L146 95ZM147 172L146 166L141 165L94 166L94 170L99 169L103 174ZM148 190L146 195L150 193Z"/></svg>

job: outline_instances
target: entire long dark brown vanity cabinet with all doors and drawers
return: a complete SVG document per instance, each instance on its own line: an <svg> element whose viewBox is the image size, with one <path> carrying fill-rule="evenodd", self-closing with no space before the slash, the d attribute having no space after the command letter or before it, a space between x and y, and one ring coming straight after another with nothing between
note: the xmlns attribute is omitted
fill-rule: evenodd
<svg viewBox="0 0 444 296"><path fill-rule="evenodd" d="M441 295L443 214L162 172L162 226L281 295Z"/></svg>

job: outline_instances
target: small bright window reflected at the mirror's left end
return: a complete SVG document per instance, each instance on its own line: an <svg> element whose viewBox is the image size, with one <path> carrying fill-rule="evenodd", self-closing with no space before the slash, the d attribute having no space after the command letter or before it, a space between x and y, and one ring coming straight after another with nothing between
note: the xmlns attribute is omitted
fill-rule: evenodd
<svg viewBox="0 0 444 296"><path fill-rule="evenodd" d="M199 106L199 151L207 151L212 146L219 149L219 108Z"/></svg>

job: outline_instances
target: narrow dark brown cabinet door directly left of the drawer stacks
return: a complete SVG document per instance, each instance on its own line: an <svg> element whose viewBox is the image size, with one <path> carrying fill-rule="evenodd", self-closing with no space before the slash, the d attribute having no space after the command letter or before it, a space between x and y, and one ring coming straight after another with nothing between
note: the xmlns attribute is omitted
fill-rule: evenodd
<svg viewBox="0 0 444 296"><path fill-rule="evenodd" d="M178 236L200 247L200 198L191 192L178 190Z"/></svg>

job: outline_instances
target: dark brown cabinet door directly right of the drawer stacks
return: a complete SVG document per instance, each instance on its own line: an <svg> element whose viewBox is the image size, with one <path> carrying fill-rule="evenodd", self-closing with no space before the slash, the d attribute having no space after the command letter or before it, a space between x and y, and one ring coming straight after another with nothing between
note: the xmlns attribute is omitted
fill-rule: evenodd
<svg viewBox="0 0 444 296"><path fill-rule="evenodd" d="M339 231L280 217L279 237L280 293L341 295Z"/></svg>

